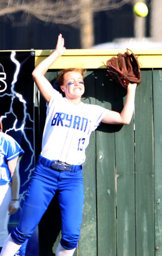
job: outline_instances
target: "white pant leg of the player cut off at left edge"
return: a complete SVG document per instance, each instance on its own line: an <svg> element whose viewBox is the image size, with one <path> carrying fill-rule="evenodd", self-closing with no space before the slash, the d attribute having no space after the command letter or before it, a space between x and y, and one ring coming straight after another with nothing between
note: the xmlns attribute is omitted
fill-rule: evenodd
<svg viewBox="0 0 162 256"><path fill-rule="evenodd" d="M9 203L12 199L11 185L0 186L0 247L4 245L4 241L8 236L9 222Z"/></svg>

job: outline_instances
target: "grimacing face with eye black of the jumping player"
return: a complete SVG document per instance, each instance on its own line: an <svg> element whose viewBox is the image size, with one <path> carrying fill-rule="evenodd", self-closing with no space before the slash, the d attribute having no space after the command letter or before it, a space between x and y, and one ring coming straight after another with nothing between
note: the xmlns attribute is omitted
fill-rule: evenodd
<svg viewBox="0 0 162 256"><path fill-rule="evenodd" d="M75 71L64 74L64 85L61 86L61 90L66 98L81 98L85 91L82 74Z"/></svg>

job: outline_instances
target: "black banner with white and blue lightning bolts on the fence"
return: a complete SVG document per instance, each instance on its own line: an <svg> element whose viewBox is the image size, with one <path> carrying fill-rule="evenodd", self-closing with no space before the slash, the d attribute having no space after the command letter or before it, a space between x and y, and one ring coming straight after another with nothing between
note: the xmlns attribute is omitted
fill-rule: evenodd
<svg viewBox="0 0 162 256"><path fill-rule="evenodd" d="M25 151L19 164L20 208L10 217L9 232L19 223L28 183L35 167L34 67L35 56L32 51L0 52L0 116L3 132L11 135ZM28 241L25 255L38 255L37 229Z"/></svg>

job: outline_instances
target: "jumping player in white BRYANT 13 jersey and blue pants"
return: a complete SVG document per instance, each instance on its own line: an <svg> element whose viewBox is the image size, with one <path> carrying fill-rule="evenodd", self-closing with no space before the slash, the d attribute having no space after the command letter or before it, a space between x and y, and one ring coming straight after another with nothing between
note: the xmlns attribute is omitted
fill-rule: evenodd
<svg viewBox="0 0 162 256"><path fill-rule="evenodd" d="M82 70L65 69L56 91L45 78L46 71L66 48L58 36L56 50L33 70L33 79L47 102L42 150L28 187L20 223L7 237L1 256L13 256L30 237L56 191L61 210L61 241L56 256L73 255L80 236L83 210L82 164L90 134L100 122L129 124L134 110L136 84L128 86L121 113L101 106L84 104Z"/></svg>

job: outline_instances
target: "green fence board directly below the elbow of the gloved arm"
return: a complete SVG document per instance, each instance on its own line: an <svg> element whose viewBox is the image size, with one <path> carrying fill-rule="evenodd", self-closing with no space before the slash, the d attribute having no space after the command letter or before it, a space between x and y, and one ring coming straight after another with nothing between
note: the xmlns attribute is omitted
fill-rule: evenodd
<svg viewBox="0 0 162 256"><path fill-rule="evenodd" d="M135 256L134 126L116 133L117 256Z"/></svg>

